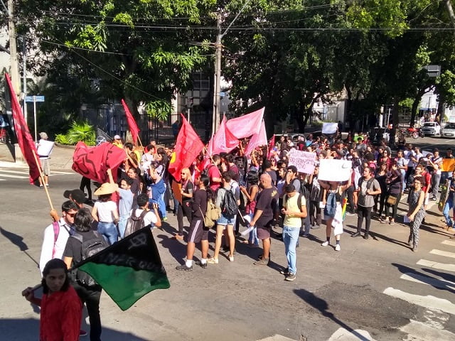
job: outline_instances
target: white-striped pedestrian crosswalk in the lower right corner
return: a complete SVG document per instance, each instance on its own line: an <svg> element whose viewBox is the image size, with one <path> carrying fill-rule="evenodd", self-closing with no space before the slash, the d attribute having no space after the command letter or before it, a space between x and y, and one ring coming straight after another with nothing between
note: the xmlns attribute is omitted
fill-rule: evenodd
<svg viewBox="0 0 455 341"><path fill-rule="evenodd" d="M408 340L455 340L454 333L444 330L444 323L449 320L447 314L455 315L455 304L452 302L453 300L447 299L451 299L453 296L446 295L448 292L453 293L455 291L455 282L452 279L455 278L455 264L451 263L455 258L454 246L455 242L444 240L438 249L432 249L425 256L425 259L417 261L416 264L421 267L422 272L419 269L415 272L405 272L400 276L400 280L405 281L402 282L402 285L399 284L400 288L389 287L383 291L385 295L399 298L426 309L425 321L410 320L408 325L400 328L403 332L407 332L408 336L415 336L415 338ZM417 286L410 285L410 282L417 283ZM439 297L410 292L420 291L420 285L438 289L432 293L437 293ZM422 288L423 292L428 291L428 289Z"/></svg>

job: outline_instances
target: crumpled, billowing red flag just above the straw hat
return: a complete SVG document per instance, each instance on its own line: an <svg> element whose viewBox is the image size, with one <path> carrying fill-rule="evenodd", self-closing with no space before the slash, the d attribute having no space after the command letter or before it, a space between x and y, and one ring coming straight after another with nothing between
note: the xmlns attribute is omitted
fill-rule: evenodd
<svg viewBox="0 0 455 341"><path fill-rule="evenodd" d="M127 154L122 148L103 142L96 147L87 147L77 142L73 154L73 170L98 183L109 183L107 169L112 169L112 177L116 180L117 168L125 160Z"/></svg>

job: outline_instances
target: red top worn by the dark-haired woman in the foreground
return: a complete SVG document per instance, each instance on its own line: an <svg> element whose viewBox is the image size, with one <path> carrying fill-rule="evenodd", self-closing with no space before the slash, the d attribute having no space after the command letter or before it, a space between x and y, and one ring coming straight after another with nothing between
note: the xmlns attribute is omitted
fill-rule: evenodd
<svg viewBox="0 0 455 341"><path fill-rule="evenodd" d="M43 294L40 341L79 340L82 303L72 286L68 291Z"/></svg>

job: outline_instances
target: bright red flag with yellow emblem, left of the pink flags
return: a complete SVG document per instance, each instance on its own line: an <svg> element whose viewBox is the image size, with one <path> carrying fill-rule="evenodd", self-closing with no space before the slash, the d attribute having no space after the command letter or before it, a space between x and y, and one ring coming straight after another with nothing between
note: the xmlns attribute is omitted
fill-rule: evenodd
<svg viewBox="0 0 455 341"><path fill-rule="evenodd" d="M177 181L180 181L180 172L183 168L191 166L193 161L203 150L204 144L200 141L200 137L196 134L191 124L182 117L182 126L178 131L176 147L169 162L168 172Z"/></svg>

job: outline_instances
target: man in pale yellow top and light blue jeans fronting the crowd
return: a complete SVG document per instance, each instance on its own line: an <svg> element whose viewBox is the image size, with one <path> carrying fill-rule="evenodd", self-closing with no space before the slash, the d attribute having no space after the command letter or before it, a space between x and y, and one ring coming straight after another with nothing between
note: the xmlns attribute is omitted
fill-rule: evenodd
<svg viewBox="0 0 455 341"><path fill-rule="evenodd" d="M306 217L306 200L304 195L299 195L294 188L294 185L289 184L284 186L283 208L284 215L283 223L283 242L284 254L287 258L287 268L282 271L286 276L286 281L294 281L296 279L296 244L299 240L299 231L301 227L301 218Z"/></svg>

